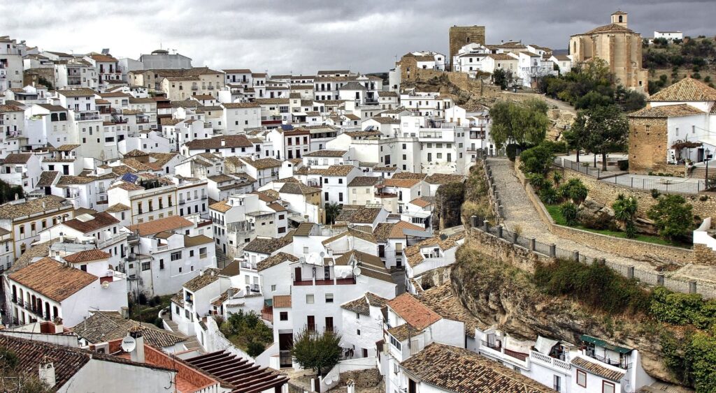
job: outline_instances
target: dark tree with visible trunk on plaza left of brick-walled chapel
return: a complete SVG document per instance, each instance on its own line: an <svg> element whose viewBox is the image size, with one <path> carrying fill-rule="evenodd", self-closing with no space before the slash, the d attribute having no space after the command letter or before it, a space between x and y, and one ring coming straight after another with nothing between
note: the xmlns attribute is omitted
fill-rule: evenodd
<svg viewBox="0 0 716 393"><path fill-rule="evenodd" d="M606 154L623 149L627 144L629 122L614 105L590 109L586 116L586 148L594 154L601 154L601 169L606 171Z"/></svg>

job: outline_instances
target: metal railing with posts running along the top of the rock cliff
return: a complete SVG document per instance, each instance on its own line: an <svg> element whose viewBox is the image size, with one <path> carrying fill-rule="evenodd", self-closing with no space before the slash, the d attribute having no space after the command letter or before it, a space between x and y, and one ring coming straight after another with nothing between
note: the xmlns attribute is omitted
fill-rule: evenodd
<svg viewBox="0 0 716 393"><path fill-rule="evenodd" d="M572 259L583 264L593 264L596 259L586 257L577 250L561 249L556 244L542 243L534 237L523 237L516 232L510 232L505 229L502 225L490 226L489 222L485 217L473 216L472 218L473 231L483 232L492 237L503 239L508 243L511 243L513 247L520 247L526 249L529 252L541 254L543 257L553 259ZM527 244L527 246L524 246ZM606 264L607 267L621 274L628 279L637 279L651 286L666 287L672 292L680 292L684 294L701 294L704 299L716 299L716 285L710 282L704 282L700 280L687 280L680 279L678 277L667 277L662 272L649 272L642 269L637 269L634 265L617 264L615 262L607 261L606 259L599 259L599 262Z"/></svg>

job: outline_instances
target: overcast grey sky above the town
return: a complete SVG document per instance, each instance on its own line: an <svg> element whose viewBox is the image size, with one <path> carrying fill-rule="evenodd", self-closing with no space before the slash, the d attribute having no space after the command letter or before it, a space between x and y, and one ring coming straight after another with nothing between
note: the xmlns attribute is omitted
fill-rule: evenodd
<svg viewBox="0 0 716 393"><path fill-rule="evenodd" d="M715 0L0 0L0 35L132 59L161 43L213 69L378 72L408 51L447 53L454 24L484 25L488 44L566 49L571 34L609 24L616 9L629 12L629 27L642 36L716 34Z"/></svg>

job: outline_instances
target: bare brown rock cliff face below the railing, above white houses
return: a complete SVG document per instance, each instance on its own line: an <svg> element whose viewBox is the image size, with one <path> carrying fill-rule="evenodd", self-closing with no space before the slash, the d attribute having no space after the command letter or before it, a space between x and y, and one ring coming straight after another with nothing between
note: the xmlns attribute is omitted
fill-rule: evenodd
<svg viewBox="0 0 716 393"><path fill-rule="evenodd" d="M609 339L639 349L644 370L654 378L678 383L661 361L659 337L644 324L627 319L610 321L566 299L548 297L515 267L486 259L475 248L458 251L453 266L453 292L480 322L496 325L518 339L537 335L579 342L580 334Z"/></svg>

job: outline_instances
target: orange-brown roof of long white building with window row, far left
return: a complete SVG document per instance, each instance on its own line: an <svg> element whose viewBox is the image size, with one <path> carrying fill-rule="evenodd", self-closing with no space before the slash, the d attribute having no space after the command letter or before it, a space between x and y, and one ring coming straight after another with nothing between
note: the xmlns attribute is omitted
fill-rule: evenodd
<svg viewBox="0 0 716 393"><path fill-rule="evenodd" d="M43 258L9 275L17 282L55 302L62 302L92 284L97 277L69 267L52 258Z"/></svg>

